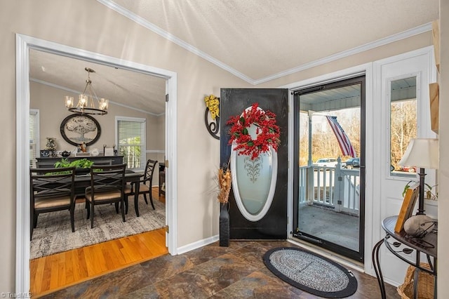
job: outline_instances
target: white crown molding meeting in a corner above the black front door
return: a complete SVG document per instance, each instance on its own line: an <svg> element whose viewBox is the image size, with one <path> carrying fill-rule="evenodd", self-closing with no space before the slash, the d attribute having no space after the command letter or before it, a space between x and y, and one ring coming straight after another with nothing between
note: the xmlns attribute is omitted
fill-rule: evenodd
<svg viewBox="0 0 449 299"><path fill-rule="evenodd" d="M358 46L356 48L351 48L346 51L342 51L340 53L336 53L334 55L327 56L326 58L321 58L319 60L315 60L312 62L305 63L304 65L299 65L297 67L293 67L291 69L286 69L283 72L279 72L277 74L272 74L267 77L263 77L260 79L251 79L250 77L246 76L245 74L242 74L241 72L237 71L236 69L230 67L229 65L226 65L225 63L221 62L220 60L217 60L213 58L212 56L204 53L203 51L199 50L198 48L195 48L191 44L187 44L187 42L182 41L182 39L178 39L173 34L170 34L166 32L165 30L161 29L160 27L157 27L156 25L152 24L152 22L149 22L140 16L136 15L135 13L128 11L126 8L123 8L122 6L119 6L118 4L115 4L111 0L97 0L101 4L111 8L112 10L116 11L117 13L120 13L121 15L124 15L126 18L129 18L130 20L133 20L134 22L138 23L139 25L142 25L143 27L151 30L152 32L159 34L165 39L168 39L169 41L172 41L173 43L177 44L178 46L181 46L182 48L185 48L187 51L190 51L196 55L199 55L199 57L208 60L208 62L213 63L214 65L217 65L217 67L220 67L222 69L225 69L225 71L230 72L231 74L234 74L236 77L239 77L243 81L248 82L249 84L258 85L262 84L267 81L271 81L274 79L279 79L284 76L288 76L290 74L294 74L296 72L304 71L305 69L310 69L311 67L317 67L319 65L324 65L328 62L332 62L335 60L339 60L342 58L349 57L351 55L355 55L364 51L371 50L373 48L377 48L380 46L384 46L386 44L393 43L395 41L400 41L401 39L407 39L410 36L414 36L417 34L422 34L424 32L429 32L432 29L431 22L408 29L404 32L400 32L398 34L393 34L391 36L387 36L384 39L378 39L377 41L373 41L368 44L364 44L362 46Z"/></svg>

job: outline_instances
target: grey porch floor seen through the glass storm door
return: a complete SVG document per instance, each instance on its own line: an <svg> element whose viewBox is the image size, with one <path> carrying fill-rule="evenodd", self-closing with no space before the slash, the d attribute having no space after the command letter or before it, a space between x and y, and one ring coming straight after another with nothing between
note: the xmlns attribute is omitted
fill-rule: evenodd
<svg viewBox="0 0 449 299"><path fill-rule="evenodd" d="M301 232L358 251L358 216L316 205L300 207Z"/></svg>

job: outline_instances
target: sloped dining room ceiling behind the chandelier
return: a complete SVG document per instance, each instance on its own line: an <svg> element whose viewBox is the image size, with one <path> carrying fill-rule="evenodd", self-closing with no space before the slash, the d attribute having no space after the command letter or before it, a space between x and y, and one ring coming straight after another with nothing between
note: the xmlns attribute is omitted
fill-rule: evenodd
<svg viewBox="0 0 449 299"><path fill-rule="evenodd" d="M32 81L74 93L83 92L88 78L84 68L91 68L95 70L90 77L98 98L154 115L165 113L165 79L36 50L29 53L29 65ZM63 103L61 98L60 105Z"/></svg>

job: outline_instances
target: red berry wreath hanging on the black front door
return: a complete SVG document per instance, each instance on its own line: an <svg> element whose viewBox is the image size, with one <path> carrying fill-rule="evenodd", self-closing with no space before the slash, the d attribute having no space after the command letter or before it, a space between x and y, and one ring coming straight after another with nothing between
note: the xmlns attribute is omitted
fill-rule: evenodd
<svg viewBox="0 0 449 299"><path fill-rule="evenodd" d="M254 160L259 154L268 152L270 146L277 152L281 133L276 125L276 114L262 110L257 102L241 115L230 117L226 124L232 125L228 132L231 136L229 145L235 142L234 150L239 154L246 154ZM248 133L251 125L257 127L255 139Z"/></svg>

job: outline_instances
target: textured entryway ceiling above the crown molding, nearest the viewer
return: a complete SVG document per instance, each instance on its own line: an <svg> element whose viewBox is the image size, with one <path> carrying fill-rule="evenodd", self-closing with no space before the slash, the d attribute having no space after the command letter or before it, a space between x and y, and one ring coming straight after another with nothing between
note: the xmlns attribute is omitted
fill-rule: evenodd
<svg viewBox="0 0 449 299"><path fill-rule="evenodd" d="M252 80L438 19L438 0L99 0Z"/></svg>

